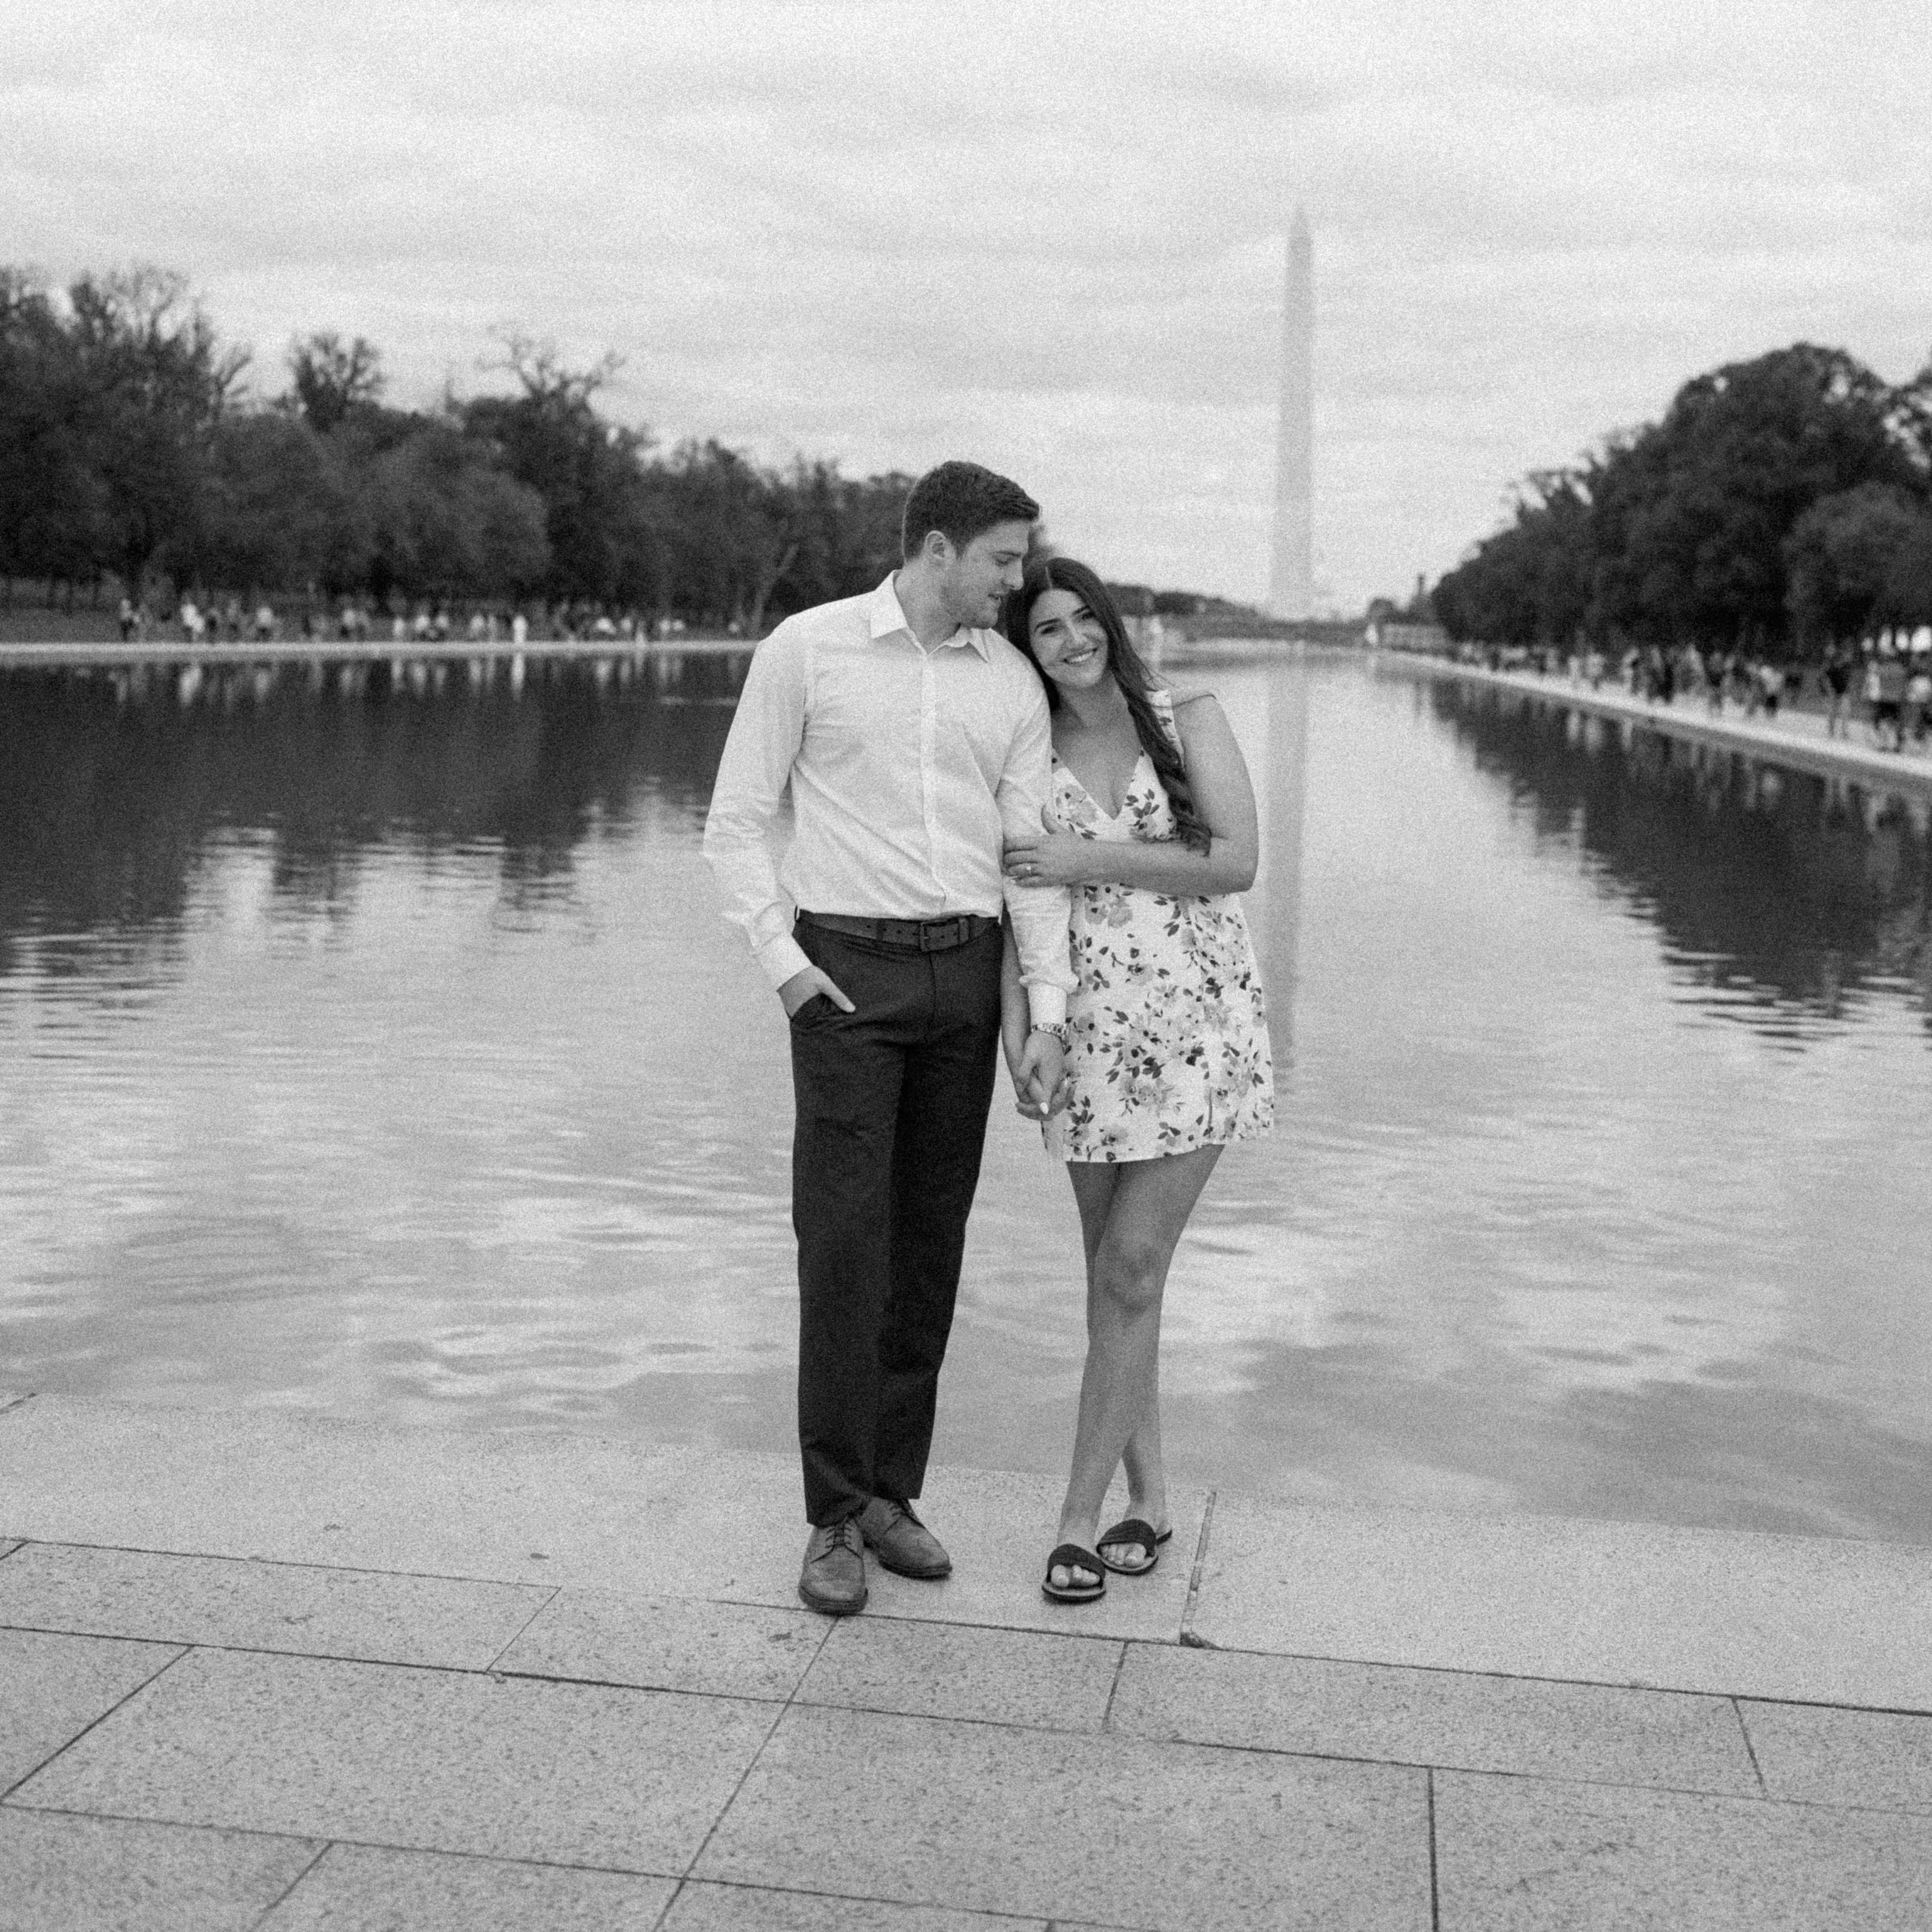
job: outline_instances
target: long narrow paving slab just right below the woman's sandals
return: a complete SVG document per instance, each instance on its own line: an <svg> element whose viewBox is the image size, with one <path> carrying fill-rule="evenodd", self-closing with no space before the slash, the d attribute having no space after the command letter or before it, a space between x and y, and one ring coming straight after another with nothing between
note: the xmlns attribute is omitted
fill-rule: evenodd
<svg viewBox="0 0 1932 1932"><path fill-rule="evenodd" d="M1109 1729L1758 1797L1729 1698L1130 1644Z"/></svg>

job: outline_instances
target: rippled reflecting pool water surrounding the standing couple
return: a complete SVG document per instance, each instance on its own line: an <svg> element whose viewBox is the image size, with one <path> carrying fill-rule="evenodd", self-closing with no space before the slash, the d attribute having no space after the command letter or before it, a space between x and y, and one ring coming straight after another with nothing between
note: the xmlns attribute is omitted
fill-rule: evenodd
<svg viewBox="0 0 1932 1932"><path fill-rule="evenodd" d="M697 854L740 672L0 680L6 1381L788 1447L784 1028ZM1922 804L1190 678L1283 1078L1177 1258L1179 1474L1932 1542ZM937 1455L1061 1468L1076 1260L1001 1105Z"/></svg>

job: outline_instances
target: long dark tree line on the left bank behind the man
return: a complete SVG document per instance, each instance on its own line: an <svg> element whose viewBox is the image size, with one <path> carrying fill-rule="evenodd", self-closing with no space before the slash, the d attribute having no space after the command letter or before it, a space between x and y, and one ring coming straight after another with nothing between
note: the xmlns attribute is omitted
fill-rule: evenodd
<svg viewBox="0 0 1932 1932"><path fill-rule="evenodd" d="M500 350L506 394L398 410L373 344L317 332L261 396L178 274L54 292L0 269L0 580L597 605L755 636L898 562L910 477L659 450L597 408L614 359Z"/></svg>

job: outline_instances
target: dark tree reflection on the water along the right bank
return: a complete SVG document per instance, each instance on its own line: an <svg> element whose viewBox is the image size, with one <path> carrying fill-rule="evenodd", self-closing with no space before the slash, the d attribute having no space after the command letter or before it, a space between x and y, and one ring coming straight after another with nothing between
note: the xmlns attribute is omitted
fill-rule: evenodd
<svg viewBox="0 0 1932 1932"><path fill-rule="evenodd" d="M1694 985L1791 1045L1799 1020L1909 989L1932 1026L1922 798L1772 765L1443 678L1416 688L1540 838L1580 846Z"/></svg>

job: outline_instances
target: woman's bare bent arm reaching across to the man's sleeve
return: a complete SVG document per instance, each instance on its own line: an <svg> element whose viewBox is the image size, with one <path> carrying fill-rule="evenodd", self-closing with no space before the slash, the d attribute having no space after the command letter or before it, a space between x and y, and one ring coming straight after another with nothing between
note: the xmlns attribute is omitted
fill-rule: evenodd
<svg viewBox="0 0 1932 1932"><path fill-rule="evenodd" d="M1080 838L1039 833L1007 840L1007 869L1034 866L1039 885L1132 885L1173 898L1246 893L1260 862L1254 786L1221 705L1206 692L1175 705L1194 813L1208 827L1208 850L1179 838Z"/></svg>

